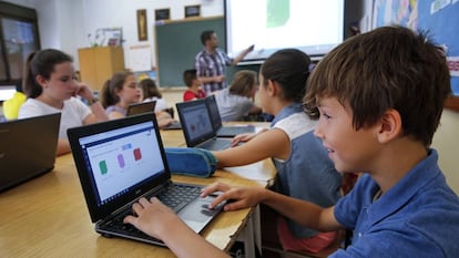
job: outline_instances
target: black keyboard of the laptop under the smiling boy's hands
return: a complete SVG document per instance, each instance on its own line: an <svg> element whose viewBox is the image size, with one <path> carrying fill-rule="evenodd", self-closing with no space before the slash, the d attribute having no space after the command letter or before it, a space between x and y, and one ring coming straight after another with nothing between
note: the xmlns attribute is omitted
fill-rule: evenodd
<svg viewBox="0 0 459 258"><path fill-rule="evenodd" d="M187 185L174 185L170 184L166 186L156 197L166 206L169 206L174 211L178 211L186 204L195 199L201 194L201 187L187 186ZM150 198L150 197L146 197ZM126 235L135 239L145 239L152 241L160 241L156 238L150 237L132 226L131 224L124 224L123 219L128 215L133 215L132 209L126 209L125 211L119 214L113 219L105 221L100 225L100 229L113 231L115 234Z"/></svg>

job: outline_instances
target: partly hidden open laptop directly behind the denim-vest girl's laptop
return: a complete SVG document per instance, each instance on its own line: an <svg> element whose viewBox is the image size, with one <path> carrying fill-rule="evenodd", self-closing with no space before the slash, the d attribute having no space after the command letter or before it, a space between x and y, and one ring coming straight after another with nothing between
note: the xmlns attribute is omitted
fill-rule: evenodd
<svg viewBox="0 0 459 258"><path fill-rule="evenodd" d="M208 113L211 114L212 125L218 137L234 137L238 134L255 133L255 126L223 126L222 116L218 112L218 105L215 101L215 95L206 97Z"/></svg>

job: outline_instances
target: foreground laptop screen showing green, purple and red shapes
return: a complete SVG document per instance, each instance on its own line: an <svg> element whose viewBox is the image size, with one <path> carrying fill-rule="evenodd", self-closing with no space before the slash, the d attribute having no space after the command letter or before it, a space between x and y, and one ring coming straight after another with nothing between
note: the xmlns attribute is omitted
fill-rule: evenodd
<svg viewBox="0 0 459 258"><path fill-rule="evenodd" d="M80 138L98 206L164 173L157 141L152 122Z"/></svg>

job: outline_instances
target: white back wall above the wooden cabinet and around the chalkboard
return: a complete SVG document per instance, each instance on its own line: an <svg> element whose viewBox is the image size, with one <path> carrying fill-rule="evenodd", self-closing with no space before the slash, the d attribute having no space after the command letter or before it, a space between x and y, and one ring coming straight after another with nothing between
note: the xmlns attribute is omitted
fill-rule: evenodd
<svg viewBox="0 0 459 258"><path fill-rule="evenodd" d="M78 49L90 47L88 34L100 28L123 29L125 66L130 68L131 45L150 44L152 64L155 64L153 39L154 10L171 9L171 19L184 19L185 6L201 6L202 17L223 16L223 0L2 0L34 8L39 18L42 49L55 48L74 56L75 69L80 69ZM147 41L137 39L136 10L146 9ZM200 35L196 35L200 37Z"/></svg>

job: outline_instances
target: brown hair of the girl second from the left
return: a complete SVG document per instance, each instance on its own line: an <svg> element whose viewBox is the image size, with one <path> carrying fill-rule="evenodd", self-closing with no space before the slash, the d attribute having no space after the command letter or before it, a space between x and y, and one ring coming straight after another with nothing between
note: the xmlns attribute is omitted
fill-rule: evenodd
<svg viewBox="0 0 459 258"><path fill-rule="evenodd" d="M123 89L124 82L129 75L133 75L132 72L116 72L113 76L105 81L101 90L101 104L104 109L114 105L120 101L118 91Z"/></svg>

